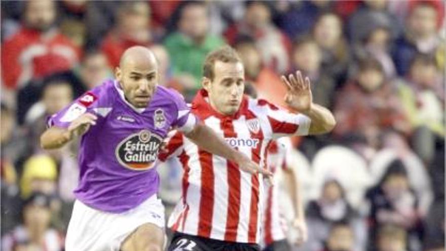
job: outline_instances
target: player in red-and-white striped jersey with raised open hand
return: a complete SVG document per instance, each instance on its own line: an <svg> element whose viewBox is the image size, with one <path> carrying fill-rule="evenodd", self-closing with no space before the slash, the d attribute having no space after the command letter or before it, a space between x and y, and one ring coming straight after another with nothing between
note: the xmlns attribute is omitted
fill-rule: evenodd
<svg viewBox="0 0 446 251"><path fill-rule="evenodd" d="M192 113L233 148L266 167L271 140L286 135L326 133L333 115L312 102L310 80L300 72L282 77L286 102L300 114L243 95L244 69L231 47L208 54ZM184 168L182 199L169 219L175 232L169 250L259 250L263 208L261 174L241 172L237 163L171 135L160 159L176 156Z"/></svg>

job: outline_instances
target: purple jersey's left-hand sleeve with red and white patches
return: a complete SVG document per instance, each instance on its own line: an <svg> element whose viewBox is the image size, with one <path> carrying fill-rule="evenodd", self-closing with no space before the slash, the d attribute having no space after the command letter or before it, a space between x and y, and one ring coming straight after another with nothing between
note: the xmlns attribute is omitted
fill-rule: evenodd
<svg viewBox="0 0 446 251"><path fill-rule="evenodd" d="M50 116L47 119L47 126L67 128L73 120L87 112L93 111L98 102L97 100L98 94L97 92L95 93L95 90L84 93L64 109Z"/></svg>

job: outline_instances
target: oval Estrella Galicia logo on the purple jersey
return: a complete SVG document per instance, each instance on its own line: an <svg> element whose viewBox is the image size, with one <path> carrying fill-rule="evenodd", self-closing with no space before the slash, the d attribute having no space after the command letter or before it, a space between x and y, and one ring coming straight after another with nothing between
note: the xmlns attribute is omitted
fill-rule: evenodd
<svg viewBox="0 0 446 251"><path fill-rule="evenodd" d="M132 170L154 167L162 138L148 130L133 133L122 140L115 151L119 163Z"/></svg>

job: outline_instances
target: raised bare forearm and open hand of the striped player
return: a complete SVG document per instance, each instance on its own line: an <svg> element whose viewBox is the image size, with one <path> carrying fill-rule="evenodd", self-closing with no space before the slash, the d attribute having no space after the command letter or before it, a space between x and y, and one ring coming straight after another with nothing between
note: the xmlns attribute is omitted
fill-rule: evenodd
<svg viewBox="0 0 446 251"><path fill-rule="evenodd" d="M331 131L336 125L333 114L325 107L313 103L310 79L302 77L301 71L282 76L282 82L287 86L286 103L294 110L311 119L309 134L322 134Z"/></svg>

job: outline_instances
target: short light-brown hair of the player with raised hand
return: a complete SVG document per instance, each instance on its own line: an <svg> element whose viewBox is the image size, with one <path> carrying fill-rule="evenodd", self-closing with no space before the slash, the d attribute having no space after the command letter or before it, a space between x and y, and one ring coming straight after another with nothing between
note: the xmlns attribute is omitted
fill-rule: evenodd
<svg viewBox="0 0 446 251"><path fill-rule="evenodd" d="M203 76L214 80L214 66L216 61L221 61L224 63L237 63L241 62L241 58L234 48L231 46L223 46L219 49L211 51L207 54L206 59L203 64Z"/></svg>

